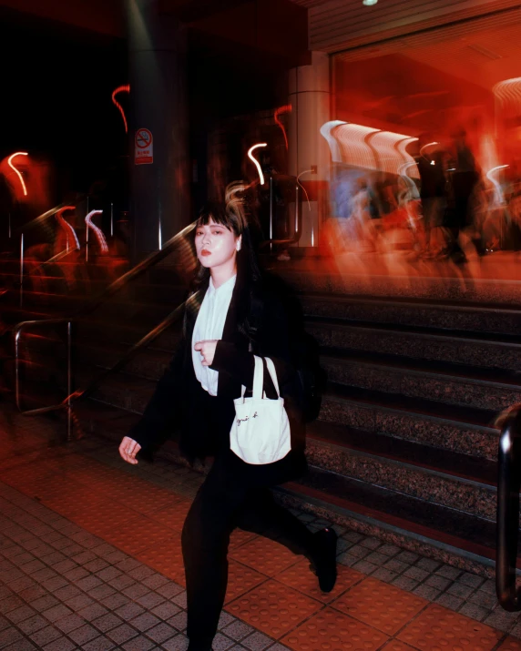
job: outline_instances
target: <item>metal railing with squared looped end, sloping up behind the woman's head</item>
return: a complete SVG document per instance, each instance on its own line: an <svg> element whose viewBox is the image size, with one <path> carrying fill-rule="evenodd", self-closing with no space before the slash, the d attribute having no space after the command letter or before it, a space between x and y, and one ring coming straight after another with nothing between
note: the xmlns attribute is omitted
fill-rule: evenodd
<svg viewBox="0 0 521 651"><path fill-rule="evenodd" d="M132 348L125 354L125 356L117 361L117 363L112 366L110 369L102 371L99 376L92 381L85 390L73 392L72 391L72 325L80 317L87 316L94 310L96 310L100 305L105 303L105 301L125 287L130 280L134 280L150 267L160 262L162 259L165 259L171 253L172 249L176 247L181 239L186 237L189 232L194 229L195 222L187 226L185 229L179 231L177 235L169 239L165 243L162 249L151 253L148 258L142 260L136 265L133 269L129 270L127 273L123 274L120 278L115 280L111 285L109 285L105 290L103 290L95 300L92 300L84 308L78 310L77 313L72 317L64 317L61 319L44 319L44 320L26 320L18 323L14 330L13 334L15 337L15 402L18 410L25 414L26 416L36 416L38 414L55 412L62 409L65 409L67 412L67 441L70 441L72 438L72 405L73 402L79 398L85 398L87 395L90 395L94 392L99 384L105 380L107 375L113 372L119 371L125 364L130 361L134 355L142 348L147 346L151 341L154 341L162 332L167 330L176 320L179 319L179 315L182 313L183 304L181 304L176 310L170 312L170 314L162 320L153 330L149 331L144 337L142 337L138 343L136 343ZM22 392L20 389L20 339L22 333L29 328L46 325L60 325L66 324L66 374L67 374L67 395L64 401L58 402L53 405L48 405L46 407L39 407L37 409L31 409L24 411L22 405Z"/></svg>

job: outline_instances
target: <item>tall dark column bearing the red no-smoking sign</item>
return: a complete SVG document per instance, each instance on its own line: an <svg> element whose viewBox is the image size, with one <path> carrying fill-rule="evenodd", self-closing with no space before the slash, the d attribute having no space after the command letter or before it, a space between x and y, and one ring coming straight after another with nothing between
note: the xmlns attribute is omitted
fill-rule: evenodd
<svg viewBox="0 0 521 651"><path fill-rule="evenodd" d="M138 260L189 223L187 33L160 14L158 0L127 0L127 17L130 221ZM139 129L152 134L148 164L136 165Z"/></svg>

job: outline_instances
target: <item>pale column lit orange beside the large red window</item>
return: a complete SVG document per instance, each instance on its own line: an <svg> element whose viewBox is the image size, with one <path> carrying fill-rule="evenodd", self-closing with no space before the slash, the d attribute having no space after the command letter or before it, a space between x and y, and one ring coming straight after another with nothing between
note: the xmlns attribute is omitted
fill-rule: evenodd
<svg viewBox="0 0 521 651"><path fill-rule="evenodd" d="M320 128L330 119L330 102L329 56L312 52L310 66L290 70L289 173L300 175L310 198L308 204L302 193L299 247L318 247L321 224L327 217L330 153Z"/></svg>

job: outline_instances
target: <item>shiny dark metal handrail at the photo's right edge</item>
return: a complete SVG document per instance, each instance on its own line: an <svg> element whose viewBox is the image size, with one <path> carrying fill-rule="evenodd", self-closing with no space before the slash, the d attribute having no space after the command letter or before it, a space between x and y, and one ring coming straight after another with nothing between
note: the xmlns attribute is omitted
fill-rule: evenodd
<svg viewBox="0 0 521 651"><path fill-rule="evenodd" d="M521 489L521 404L496 421L501 425L497 454L497 518L495 593L509 612L521 610L521 589L516 588L519 490Z"/></svg>

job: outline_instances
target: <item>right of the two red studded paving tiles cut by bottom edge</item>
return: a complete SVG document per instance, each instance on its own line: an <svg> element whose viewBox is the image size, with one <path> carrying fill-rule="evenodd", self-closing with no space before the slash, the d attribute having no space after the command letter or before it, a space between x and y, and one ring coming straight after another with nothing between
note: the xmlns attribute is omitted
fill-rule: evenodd
<svg viewBox="0 0 521 651"><path fill-rule="evenodd" d="M399 634L398 639L421 651L440 647L491 651L502 633L465 615L453 613L440 605L429 605Z"/></svg>

